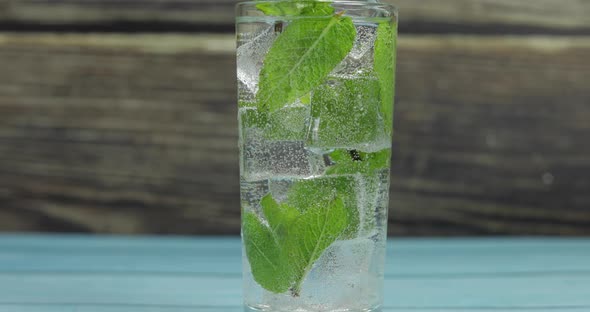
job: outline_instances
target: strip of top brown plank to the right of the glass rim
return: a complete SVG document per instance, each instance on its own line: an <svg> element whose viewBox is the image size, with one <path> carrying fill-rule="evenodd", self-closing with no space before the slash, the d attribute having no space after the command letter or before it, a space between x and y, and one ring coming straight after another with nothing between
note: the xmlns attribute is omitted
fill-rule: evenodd
<svg viewBox="0 0 590 312"><path fill-rule="evenodd" d="M409 31L590 34L590 3L583 0L386 0ZM429 27L430 25L430 27ZM436 27L442 29L437 30Z"/></svg>

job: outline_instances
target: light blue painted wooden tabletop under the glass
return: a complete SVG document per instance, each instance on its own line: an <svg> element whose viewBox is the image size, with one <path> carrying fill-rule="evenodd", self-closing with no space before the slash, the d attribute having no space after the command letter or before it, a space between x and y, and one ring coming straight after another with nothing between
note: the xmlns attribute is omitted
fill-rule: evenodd
<svg viewBox="0 0 590 312"><path fill-rule="evenodd" d="M238 238L0 235L0 311L241 311ZM393 239L384 311L590 311L590 240Z"/></svg>

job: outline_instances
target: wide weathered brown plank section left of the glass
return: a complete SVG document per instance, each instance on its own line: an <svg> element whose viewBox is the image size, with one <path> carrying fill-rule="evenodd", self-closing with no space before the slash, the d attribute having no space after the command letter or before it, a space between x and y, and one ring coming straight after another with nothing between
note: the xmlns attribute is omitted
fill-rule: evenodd
<svg viewBox="0 0 590 312"><path fill-rule="evenodd" d="M220 54L194 36L2 38L4 215L43 211L40 230L236 233L231 41Z"/></svg>

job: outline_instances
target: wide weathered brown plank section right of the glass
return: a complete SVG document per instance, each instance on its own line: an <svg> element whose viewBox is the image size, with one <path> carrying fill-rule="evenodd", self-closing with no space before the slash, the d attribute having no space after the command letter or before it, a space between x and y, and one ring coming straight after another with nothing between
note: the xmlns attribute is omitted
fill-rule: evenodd
<svg viewBox="0 0 590 312"><path fill-rule="evenodd" d="M397 215L475 232L587 234L588 40L400 42Z"/></svg>

